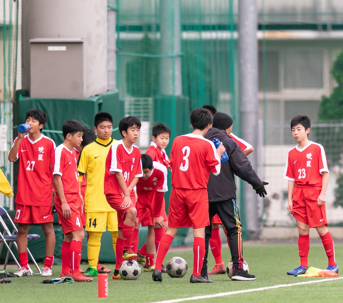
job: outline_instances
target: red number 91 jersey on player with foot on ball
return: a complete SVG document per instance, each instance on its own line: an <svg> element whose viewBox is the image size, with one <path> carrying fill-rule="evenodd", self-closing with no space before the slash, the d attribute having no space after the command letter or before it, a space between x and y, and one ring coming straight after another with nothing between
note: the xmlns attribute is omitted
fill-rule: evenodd
<svg viewBox="0 0 343 303"><path fill-rule="evenodd" d="M122 173L126 186L129 187L134 177L142 177L141 151L135 145L128 151L123 140L113 142L108 151L105 164L104 194L120 195L122 190L119 186L115 172ZM133 190L132 190L133 192Z"/></svg>

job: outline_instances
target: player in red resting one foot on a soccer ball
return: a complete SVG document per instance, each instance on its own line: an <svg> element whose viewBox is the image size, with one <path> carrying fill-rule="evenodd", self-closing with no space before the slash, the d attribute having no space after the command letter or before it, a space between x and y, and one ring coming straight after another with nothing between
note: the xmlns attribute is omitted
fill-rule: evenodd
<svg viewBox="0 0 343 303"><path fill-rule="evenodd" d="M125 117L119 122L123 139L112 143L105 164L104 194L109 205L117 211L118 239L116 243L116 267L113 279L120 279L122 260L133 260L132 251L134 221L137 216L133 188L143 176L141 152L137 142L141 122L137 117ZM121 260L122 259L122 260Z"/></svg>

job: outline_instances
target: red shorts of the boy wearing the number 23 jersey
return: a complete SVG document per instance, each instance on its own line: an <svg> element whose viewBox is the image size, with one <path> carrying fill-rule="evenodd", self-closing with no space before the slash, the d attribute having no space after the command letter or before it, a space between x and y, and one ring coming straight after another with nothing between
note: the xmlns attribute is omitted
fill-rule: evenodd
<svg viewBox="0 0 343 303"><path fill-rule="evenodd" d="M309 227L328 225L325 204L318 206L320 186L295 186L292 215Z"/></svg>

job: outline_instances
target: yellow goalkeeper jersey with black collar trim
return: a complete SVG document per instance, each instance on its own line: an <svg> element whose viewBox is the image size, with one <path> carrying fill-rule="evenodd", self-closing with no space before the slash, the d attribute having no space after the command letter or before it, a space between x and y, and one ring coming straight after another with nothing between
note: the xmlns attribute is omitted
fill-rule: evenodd
<svg viewBox="0 0 343 303"><path fill-rule="evenodd" d="M109 206L104 194L105 162L108 151L114 140L109 138L95 141L86 145L78 160L79 181L86 174L87 186L85 194L85 212L115 212Z"/></svg>

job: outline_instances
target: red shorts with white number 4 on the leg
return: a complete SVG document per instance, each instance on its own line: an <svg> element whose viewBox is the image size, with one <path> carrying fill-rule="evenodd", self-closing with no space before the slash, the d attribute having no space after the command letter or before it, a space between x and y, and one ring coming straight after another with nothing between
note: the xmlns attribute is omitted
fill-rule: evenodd
<svg viewBox="0 0 343 303"><path fill-rule="evenodd" d="M67 193L64 194L66 197L67 203L71 210L71 217L66 219L63 217L61 200L58 195L55 196L55 207L57 210L58 218L61 221L62 231L64 234L70 233L75 230L83 230L81 222L81 212L82 212L82 203L80 194L78 193Z"/></svg>

